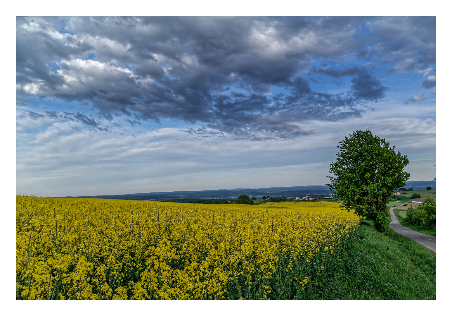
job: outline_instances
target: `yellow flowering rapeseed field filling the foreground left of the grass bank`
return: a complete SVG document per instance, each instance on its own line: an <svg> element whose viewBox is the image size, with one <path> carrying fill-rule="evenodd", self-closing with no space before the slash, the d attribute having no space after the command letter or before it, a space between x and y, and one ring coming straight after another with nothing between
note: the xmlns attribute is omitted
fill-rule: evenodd
<svg viewBox="0 0 452 316"><path fill-rule="evenodd" d="M17 196L16 297L303 298L358 223L330 202Z"/></svg>

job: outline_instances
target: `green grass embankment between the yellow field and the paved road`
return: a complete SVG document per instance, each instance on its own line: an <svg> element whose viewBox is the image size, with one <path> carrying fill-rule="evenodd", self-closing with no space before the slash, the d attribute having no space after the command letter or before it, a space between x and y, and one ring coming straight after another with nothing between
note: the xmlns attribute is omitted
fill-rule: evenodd
<svg viewBox="0 0 452 316"><path fill-rule="evenodd" d="M321 287L320 299L436 299L436 254L388 229L362 220L347 251Z"/></svg>

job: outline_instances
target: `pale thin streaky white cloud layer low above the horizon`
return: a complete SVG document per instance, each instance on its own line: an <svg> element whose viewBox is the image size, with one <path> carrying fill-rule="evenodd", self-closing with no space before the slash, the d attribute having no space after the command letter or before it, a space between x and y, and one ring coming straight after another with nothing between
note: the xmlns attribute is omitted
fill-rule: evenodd
<svg viewBox="0 0 452 316"><path fill-rule="evenodd" d="M115 127L111 133L94 132L79 122L18 117L23 127L17 132L17 194L77 196L324 184L339 141L358 129L384 137L410 161L435 158L434 120L385 115L387 110L338 123L310 121L309 136L256 142L224 133L188 134L178 128L140 132L131 127L136 136L132 137L119 134L123 129ZM418 161L410 167L411 180L429 179L430 164L430 160Z"/></svg>

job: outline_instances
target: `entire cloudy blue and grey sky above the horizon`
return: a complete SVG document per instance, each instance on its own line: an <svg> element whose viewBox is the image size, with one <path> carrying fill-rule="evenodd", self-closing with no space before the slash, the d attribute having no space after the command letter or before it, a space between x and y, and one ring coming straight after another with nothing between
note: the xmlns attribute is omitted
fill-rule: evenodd
<svg viewBox="0 0 452 316"><path fill-rule="evenodd" d="M436 177L435 17L17 17L16 194L328 183L385 138Z"/></svg>

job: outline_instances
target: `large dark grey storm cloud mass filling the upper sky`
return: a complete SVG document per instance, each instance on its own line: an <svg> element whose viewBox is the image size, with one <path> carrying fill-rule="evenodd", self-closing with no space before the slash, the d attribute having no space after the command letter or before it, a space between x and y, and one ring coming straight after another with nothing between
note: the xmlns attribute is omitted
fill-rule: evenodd
<svg viewBox="0 0 452 316"><path fill-rule="evenodd" d="M286 138L308 134L303 121L359 117L384 97L363 66L313 68L351 77L343 93L315 91L301 73L316 59L423 70L435 62L434 27L434 18L17 18L16 81L19 97L89 102L108 120ZM67 116L94 126L76 115Z"/></svg>

